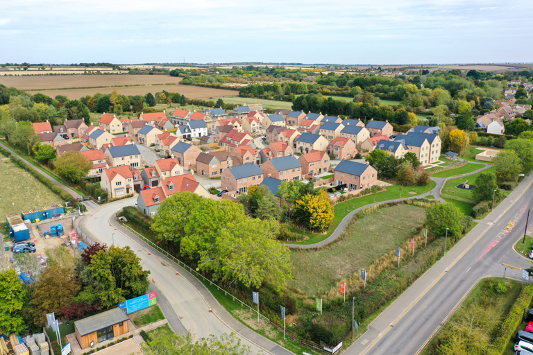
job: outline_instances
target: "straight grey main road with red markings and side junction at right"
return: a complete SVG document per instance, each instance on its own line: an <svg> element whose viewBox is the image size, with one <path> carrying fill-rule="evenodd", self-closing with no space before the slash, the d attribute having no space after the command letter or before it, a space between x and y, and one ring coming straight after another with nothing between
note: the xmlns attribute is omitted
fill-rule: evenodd
<svg viewBox="0 0 533 355"><path fill-rule="evenodd" d="M417 354L480 278L502 276L502 263L530 268L530 261L512 247L523 236L527 209L533 206L532 183L532 176L525 178L489 216L371 322L369 331L346 354ZM505 227L511 220L517 225L507 234ZM520 279L521 270L507 268L506 277Z"/></svg>

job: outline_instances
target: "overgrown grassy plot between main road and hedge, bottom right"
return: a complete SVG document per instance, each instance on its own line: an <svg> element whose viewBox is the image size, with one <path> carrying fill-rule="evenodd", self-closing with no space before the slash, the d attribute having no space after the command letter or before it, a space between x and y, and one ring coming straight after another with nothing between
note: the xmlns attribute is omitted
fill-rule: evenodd
<svg viewBox="0 0 533 355"><path fill-rule="evenodd" d="M482 279L437 336L425 347L422 354L439 354L438 348L441 346L450 347L451 351L446 354L454 354L455 350L459 351L462 348L454 347L452 338L456 336L468 339L469 331L475 341L463 340L463 343L469 343L466 345L467 349L462 349L464 353L490 354L491 343L496 340L500 330L500 322L509 313L520 291L521 283L511 279L500 277ZM476 351L484 346L486 346L484 352Z"/></svg>

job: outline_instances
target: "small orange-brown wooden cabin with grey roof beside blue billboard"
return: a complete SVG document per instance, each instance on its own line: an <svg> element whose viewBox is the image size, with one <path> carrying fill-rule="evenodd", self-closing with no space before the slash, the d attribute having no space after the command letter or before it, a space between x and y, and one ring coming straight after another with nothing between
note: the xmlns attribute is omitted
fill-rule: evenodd
<svg viewBox="0 0 533 355"><path fill-rule="evenodd" d="M74 322L76 339L85 349L129 331L128 315L119 308L110 309ZM92 343L92 344L91 344Z"/></svg>

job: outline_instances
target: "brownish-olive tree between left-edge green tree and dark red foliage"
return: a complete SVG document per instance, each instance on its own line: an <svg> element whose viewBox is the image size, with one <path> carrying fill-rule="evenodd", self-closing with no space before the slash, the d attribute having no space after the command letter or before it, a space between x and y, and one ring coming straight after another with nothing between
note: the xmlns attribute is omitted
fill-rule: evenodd
<svg viewBox="0 0 533 355"><path fill-rule="evenodd" d="M72 303L81 290L81 282L74 270L60 266L49 266L35 285L31 304L35 306L33 322L46 325L46 313L62 316L61 309Z"/></svg>

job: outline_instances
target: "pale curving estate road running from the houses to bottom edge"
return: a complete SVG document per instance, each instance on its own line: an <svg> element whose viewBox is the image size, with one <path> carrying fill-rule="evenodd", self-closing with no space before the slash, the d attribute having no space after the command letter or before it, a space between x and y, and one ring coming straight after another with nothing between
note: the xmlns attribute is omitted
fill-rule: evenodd
<svg viewBox="0 0 533 355"><path fill-rule="evenodd" d="M154 279L155 286L167 298L169 305L179 316L179 321L194 335L194 338L208 337L210 334L220 336L234 331L243 339L244 344L252 347L253 354L260 352L276 355L292 354L232 318L212 297L208 289L189 272L169 261L143 241L139 241L124 227L117 224L117 230L115 230L115 227L111 225L111 223L116 224L113 214L117 209L133 205L134 202L134 198L110 202L81 218L78 225L83 232L89 232L88 234L97 241L108 245L113 241L115 245L130 245L142 260L143 268L151 271L149 278ZM149 251L151 255L148 254ZM176 270L180 275L176 275ZM209 312L210 307L213 310L212 313ZM174 324L176 324L175 321L173 320ZM172 328L178 331L179 325L174 326L173 322L169 320Z"/></svg>

